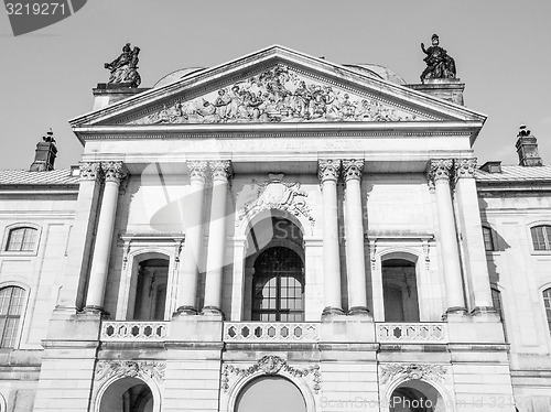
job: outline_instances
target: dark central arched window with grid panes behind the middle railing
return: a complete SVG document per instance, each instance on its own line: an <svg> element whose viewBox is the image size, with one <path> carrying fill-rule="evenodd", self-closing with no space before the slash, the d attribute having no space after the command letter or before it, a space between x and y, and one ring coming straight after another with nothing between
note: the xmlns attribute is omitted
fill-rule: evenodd
<svg viewBox="0 0 551 412"><path fill-rule="evenodd" d="M273 247L255 262L252 321L302 322L304 273L302 259L285 247Z"/></svg>

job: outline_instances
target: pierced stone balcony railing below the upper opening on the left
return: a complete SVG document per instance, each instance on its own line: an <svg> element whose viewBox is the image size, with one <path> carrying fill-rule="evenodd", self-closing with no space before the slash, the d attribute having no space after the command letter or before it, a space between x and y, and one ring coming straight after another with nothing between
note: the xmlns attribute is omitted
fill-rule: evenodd
<svg viewBox="0 0 551 412"><path fill-rule="evenodd" d="M150 341L169 336L169 322L104 321L101 340Z"/></svg>

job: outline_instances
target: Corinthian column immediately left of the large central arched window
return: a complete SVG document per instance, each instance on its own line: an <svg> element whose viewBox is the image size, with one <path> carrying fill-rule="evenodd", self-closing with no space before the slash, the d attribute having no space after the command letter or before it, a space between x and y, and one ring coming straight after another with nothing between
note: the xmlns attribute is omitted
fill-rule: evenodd
<svg viewBox="0 0 551 412"><path fill-rule="evenodd" d="M231 178L231 162L209 162L213 173L213 199L208 228L204 314L222 314L222 277L226 246L226 199Z"/></svg>

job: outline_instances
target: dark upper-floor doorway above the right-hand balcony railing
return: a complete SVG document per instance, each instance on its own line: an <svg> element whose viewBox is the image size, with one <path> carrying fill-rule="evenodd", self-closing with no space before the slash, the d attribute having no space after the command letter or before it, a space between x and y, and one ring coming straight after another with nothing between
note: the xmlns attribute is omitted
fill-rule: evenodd
<svg viewBox="0 0 551 412"><path fill-rule="evenodd" d="M415 262L391 258L381 267L385 322L419 322Z"/></svg>

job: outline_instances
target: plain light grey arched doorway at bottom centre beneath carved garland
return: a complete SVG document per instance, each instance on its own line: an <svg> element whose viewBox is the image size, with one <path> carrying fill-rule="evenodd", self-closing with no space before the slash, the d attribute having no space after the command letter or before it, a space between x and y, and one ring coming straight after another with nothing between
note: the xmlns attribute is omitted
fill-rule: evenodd
<svg viewBox="0 0 551 412"><path fill-rule="evenodd" d="M282 377L262 377L239 393L234 412L306 412L299 388Z"/></svg>

